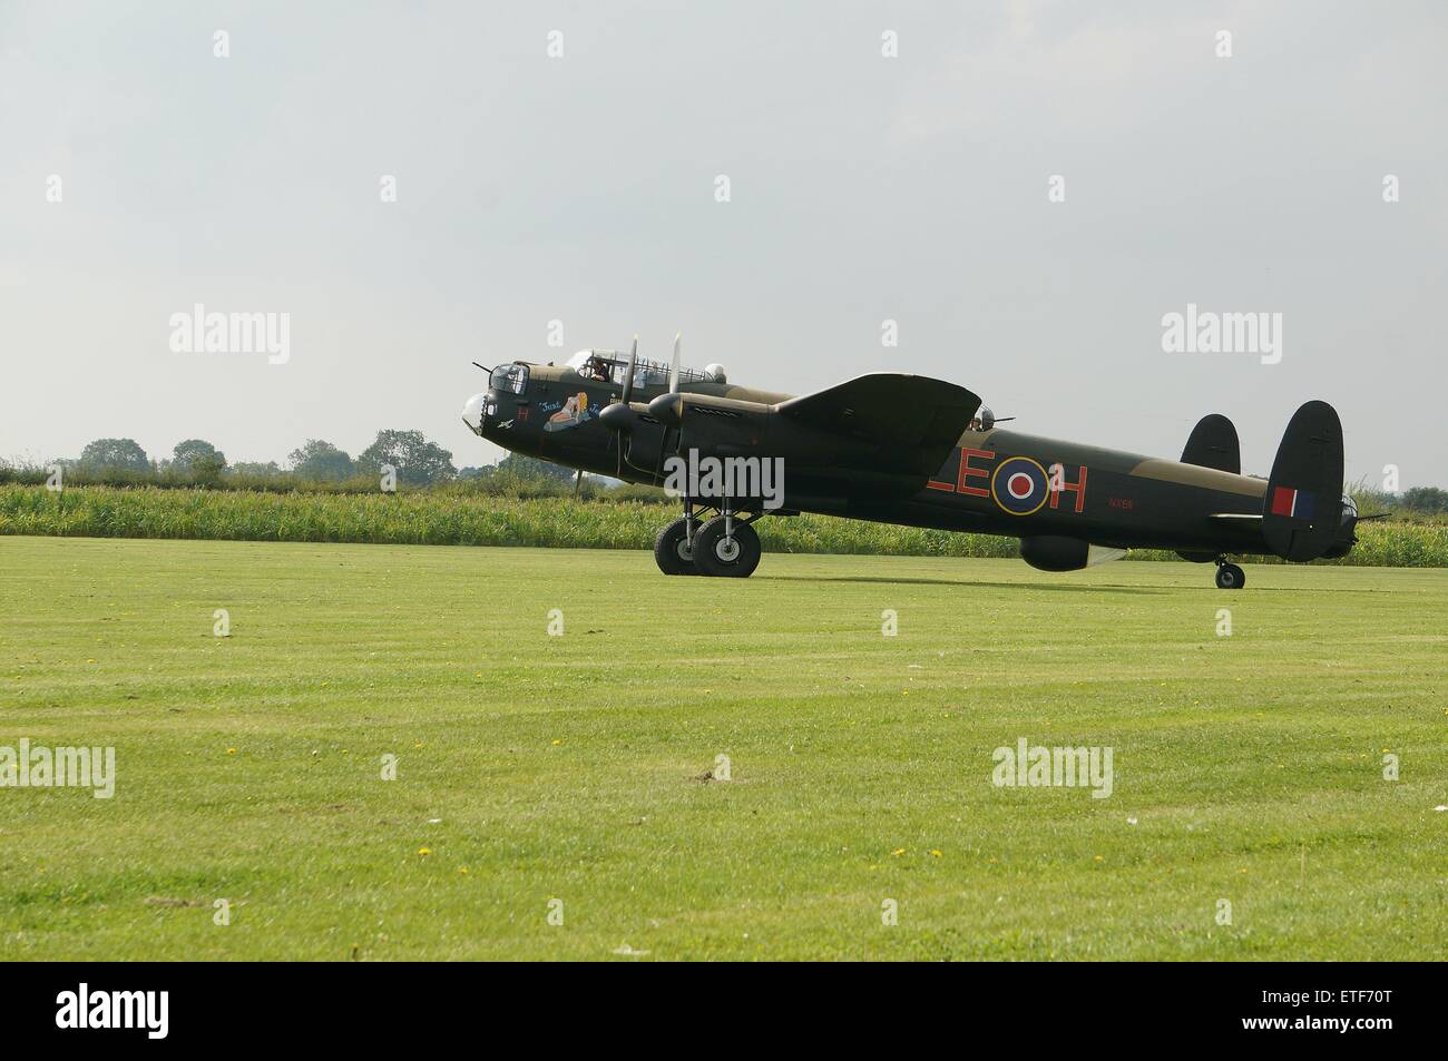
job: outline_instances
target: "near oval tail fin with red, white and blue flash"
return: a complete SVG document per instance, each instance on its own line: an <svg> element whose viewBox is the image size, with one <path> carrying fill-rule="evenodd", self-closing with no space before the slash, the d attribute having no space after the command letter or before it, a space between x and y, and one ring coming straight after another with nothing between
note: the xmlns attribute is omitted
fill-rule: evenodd
<svg viewBox="0 0 1448 1061"><path fill-rule="evenodd" d="M1263 501L1263 537L1284 560L1316 560L1342 520L1342 421L1325 401L1299 408L1277 447Z"/></svg>

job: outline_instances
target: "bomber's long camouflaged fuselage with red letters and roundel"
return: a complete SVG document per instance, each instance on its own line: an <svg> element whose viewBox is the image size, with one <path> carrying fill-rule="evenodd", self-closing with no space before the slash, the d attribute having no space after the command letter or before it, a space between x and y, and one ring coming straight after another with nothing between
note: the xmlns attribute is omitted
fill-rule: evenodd
<svg viewBox="0 0 1448 1061"><path fill-rule="evenodd" d="M588 379L568 366L527 369L521 392L507 385L487 392L484 437L569 468L662 485L657 466L620 460L617 434L598 420L598 413L620 400L618 384ZM702 381L682 389L765 405L791 397ZM647 404L663 391L663 381L657 381L636 388L633 401ZM860 469L796 469L788 459L783 470L783 511L1022 540L1058 537L1106 549L1166 549L1193 560L1271 551L1260 518L1266 479L1002 427L964 431L922 483L918 476L872 478ZM1345 553L1351 527L1344 534Z"/></svg>

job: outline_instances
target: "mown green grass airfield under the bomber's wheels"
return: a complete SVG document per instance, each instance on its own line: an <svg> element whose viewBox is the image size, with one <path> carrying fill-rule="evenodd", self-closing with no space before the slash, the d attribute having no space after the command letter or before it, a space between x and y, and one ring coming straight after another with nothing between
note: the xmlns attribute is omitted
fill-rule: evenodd
<svg viewBox="0 0 1448 1061"><path fill-rule="evenodd" d="M0 745L117 760L0 789L3 951L1441 958L1448 572L1247 572L0 537Z"/></svg>

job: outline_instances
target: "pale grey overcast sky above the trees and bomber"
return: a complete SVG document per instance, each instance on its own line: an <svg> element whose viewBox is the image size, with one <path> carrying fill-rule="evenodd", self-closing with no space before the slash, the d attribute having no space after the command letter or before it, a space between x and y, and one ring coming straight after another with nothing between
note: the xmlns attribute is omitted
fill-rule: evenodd
<svg viewBox="0 0 1448 1061"><path fill-rule="evenodd" d="M1445 43L1426 1L0 0L0 456L485 463L471 360L682 330L733 382L917 372L1158 456L1225 413L1260 473L1325 398L1351 479L1444 485ZM174 352L197 303L288 313L290 360ZM1283 314L1280 363L1163 352L1189 303Z"/></svg>

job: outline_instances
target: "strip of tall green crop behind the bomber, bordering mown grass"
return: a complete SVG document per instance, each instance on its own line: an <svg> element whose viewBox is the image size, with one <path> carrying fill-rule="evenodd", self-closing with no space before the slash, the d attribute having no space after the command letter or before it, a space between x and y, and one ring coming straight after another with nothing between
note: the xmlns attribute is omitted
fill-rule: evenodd
<svg viewBox="0 0 1448 1061"><path fill-rule="evenodd" d="M463 491L268 494L209 489L0 485L0 534L245 541L362 541L427 546L650 549L675 515L650 499L510 498ZM1016 556L1015 538L895 527L827 515L759 523L765 549L783 553ZM1339 563L1448 566L1448 525L1368 523ZM1141 550L1141 559L1173 553ZM1254 560L1255 563L1257 560Z"/></svg>

